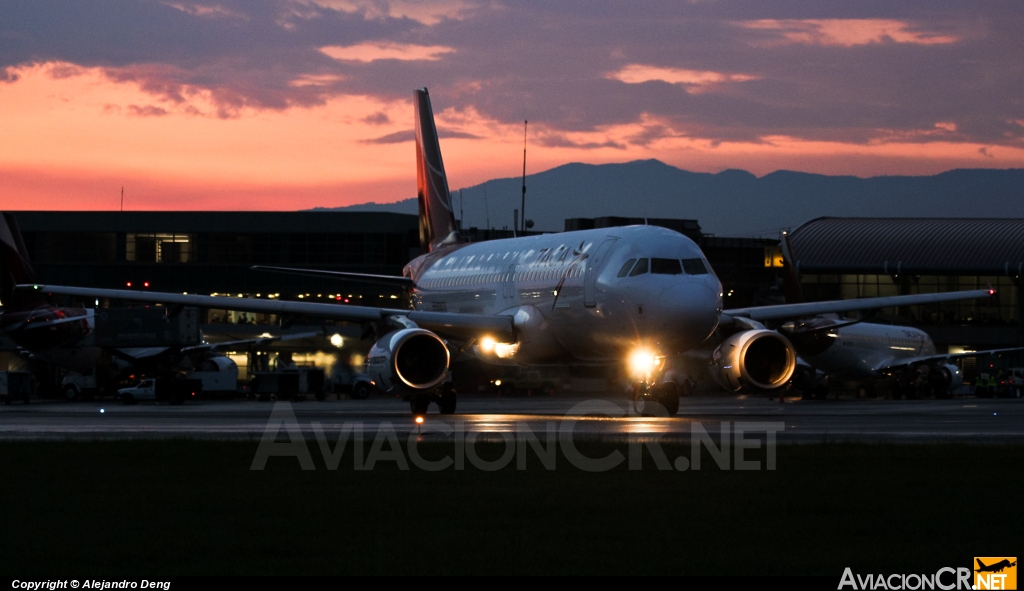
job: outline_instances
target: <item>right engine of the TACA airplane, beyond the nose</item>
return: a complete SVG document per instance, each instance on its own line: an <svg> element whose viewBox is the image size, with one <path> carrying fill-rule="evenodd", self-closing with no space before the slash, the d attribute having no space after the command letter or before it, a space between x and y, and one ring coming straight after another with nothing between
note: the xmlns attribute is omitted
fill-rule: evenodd
<svg viewBox="0 0 1024 591"><path fill-rule="evenodd" d="M773 390L785 385L797 369L797 351L782 335L752 330L727 338L712 354L711 373L722 387Z"/></svg>

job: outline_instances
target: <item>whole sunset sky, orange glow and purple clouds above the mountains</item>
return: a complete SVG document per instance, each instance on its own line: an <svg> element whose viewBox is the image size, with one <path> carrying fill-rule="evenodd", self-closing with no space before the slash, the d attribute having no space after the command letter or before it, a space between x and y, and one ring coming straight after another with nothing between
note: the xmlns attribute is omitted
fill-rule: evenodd
<svg viewBox="0 0 1024 591"><path fill-rule="evenodd" d="M1017 1L0 3L4 209L414 197L568 162L873 176L1024 167Z"/></svg>

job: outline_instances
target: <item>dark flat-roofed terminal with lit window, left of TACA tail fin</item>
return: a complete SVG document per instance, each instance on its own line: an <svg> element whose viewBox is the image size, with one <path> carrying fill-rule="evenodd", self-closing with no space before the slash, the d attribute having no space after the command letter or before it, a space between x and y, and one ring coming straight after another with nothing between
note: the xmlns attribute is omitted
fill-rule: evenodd
<svg viewBox="0 0 1024 591"><path fill-rule="evenodd" d="M250 267L401 275L419 253L417 217L397 213L20 211L15 218L39 281L55 285L388 306L400 292ZM241 315L210 310L204 320Z"/></svg>

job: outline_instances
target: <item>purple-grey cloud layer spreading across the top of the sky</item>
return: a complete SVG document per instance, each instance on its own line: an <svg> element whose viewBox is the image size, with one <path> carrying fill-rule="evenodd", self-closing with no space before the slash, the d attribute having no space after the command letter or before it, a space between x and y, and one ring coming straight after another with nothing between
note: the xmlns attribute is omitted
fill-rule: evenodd
<svg viewBox="0 0 1024 591"><path fill-rule="evenodd" d="M0 7L0 72L41 61L99 67L178 103L197 89L209 92L220 117L246 107L315 105L340 94L408 99L413 88L429 86L438 110L472 109L507 124L529 119L552 131L550 141L567 141L560 132L646 117L656 123L629 141L786 135L1024 143L1024 127L1015 123L1024 119L1024 11L1014 2L476 4L463 18L426 25L382 16L384 8L344 12L298 0L180 2L181 8L157 0L13 1ZM844 44L829 42L814 24L796 23L833 18L903 28ZM784 23L749 25L765 20ZM808 31L810 41L786 37ZM929 43L902 42L899 31ZM435 60L358 62L318 50L366 42L455 51ZM684 85L609 78L631 65L752 79ZM72 67L51 74L74 73ZM0 79L12 76L7 71ZM302 77L321 82L294 83ZM936 133L937 123L954 125L955 134Z"/></svg>

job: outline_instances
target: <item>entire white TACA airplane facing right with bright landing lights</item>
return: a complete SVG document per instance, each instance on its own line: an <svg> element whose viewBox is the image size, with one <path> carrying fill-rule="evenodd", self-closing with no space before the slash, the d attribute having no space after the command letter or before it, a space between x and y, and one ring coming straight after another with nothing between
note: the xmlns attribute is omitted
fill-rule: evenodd
<svg viewBox="0 0 1024 591"><path fill-rule="evenodd" d="M366 373L384 392L408 399L418 416L431 404L441 414L455 413L450 365L461 354L524 366L628 361L634 410L675 415L679 384L666 377L666 358L697 347L716 330L723 340L711 369L719 381L771 390L790 381L797 352L764 322L990 295L975 290L724 310L721 282L703 253L670 229L637 225L466 243L453 213L427 89L416 90L414 101L426 252L401 277L278 268L409 288L412 309L53 285L20 289L359 323L376 339Z"/></svg>

